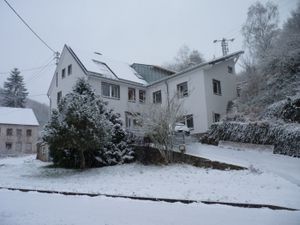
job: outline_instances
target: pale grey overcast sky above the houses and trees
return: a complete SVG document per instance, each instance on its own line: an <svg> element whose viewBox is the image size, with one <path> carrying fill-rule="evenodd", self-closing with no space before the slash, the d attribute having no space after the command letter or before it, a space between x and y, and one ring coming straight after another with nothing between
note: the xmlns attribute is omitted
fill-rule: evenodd
<svg viewBox="0 0 300 225"><path fill-rule="evenodd" d="M182 45L209 60L221 56L214 39L235 38L230 52L242 50L241 25L254 0L8 0L56 51L66 43L98 51L120 61L162 65ZM262 0L261 2L266 2ZM281 23L297 0L274 0ZM0 86L5 72L46 65L53 53L0 1ZM22 71L29 97L48 104L46 96L55 65Z"/></svg>

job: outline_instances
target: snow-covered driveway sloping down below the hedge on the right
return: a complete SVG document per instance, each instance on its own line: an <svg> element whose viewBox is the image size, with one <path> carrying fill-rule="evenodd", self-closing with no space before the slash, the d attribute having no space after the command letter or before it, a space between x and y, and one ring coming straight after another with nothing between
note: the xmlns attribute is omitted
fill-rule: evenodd
<svg viewBox="0 0 300 225"><path fill-rule="evenodd" d="M243 145L234 148L194 143L187 146L187 154L259 169L261 172L278 175L300 186L300 158L273 154L269 150L247 149L243 148Z"/></svg>

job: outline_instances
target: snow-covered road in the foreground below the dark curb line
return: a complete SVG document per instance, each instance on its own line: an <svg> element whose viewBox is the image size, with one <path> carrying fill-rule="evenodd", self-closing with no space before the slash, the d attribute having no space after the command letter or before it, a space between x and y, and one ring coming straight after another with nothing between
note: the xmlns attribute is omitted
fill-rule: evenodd
<svg viewBox="0 0 300 225"><path fill-rule="evenodd" d="M2 225L298 225L300 212L0 190Z"/></svg>

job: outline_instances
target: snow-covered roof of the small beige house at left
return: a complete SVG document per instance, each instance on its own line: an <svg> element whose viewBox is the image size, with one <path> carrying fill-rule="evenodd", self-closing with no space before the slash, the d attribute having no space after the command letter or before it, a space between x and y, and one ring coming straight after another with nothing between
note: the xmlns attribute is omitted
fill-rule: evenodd
<svg viewBox="0 0 300 225"><path fill-rule="evenodd" d="M10 107L0 107L0 124L39 126L32 109Z"/></svg>

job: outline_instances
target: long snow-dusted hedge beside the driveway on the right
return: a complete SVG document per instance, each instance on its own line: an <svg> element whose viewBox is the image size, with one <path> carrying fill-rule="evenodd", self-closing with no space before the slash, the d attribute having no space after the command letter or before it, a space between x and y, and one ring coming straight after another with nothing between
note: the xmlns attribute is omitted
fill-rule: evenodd
<svg viewBox="0 0 300 225"><path fill-rule="evenodd" d="M201 139L218 145L219 141L274 145L274 153L300 157L300 126L259 122L220 122L213 124Z"/></svg>

